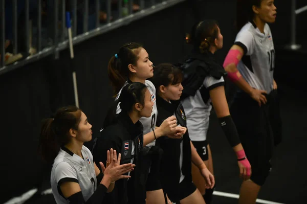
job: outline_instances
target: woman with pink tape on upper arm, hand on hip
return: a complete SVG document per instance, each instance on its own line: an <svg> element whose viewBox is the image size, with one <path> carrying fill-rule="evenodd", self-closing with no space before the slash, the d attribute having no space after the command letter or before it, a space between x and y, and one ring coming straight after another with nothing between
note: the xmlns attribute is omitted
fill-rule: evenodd
<svg viewBox="0 0 307 204"><path fill-rule="evenodd" d="M276 119L270 120L277 84L273 79L275 51L268 23L275 22L275 18L274 0L238 1L238 33L224 61L230 80L239 87L231 115L253 168L250 179L241 186L239 203L255 203L271 171L274 143L281 139L278 110ZM274 141L275 136L278 140Z"/></svg>

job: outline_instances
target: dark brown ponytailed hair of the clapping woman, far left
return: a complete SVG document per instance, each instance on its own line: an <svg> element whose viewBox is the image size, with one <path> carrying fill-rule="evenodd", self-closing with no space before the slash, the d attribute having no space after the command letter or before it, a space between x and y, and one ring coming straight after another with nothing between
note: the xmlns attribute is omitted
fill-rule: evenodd
<svg viewBox="0 0 307 204"><path fill-rule="evenodd" d="M43 160L52 163L60 147L71 140L69 130L78 129L81 110L76 106L59 108L54 118L43 119L39 138L39 153Z"/></svg>

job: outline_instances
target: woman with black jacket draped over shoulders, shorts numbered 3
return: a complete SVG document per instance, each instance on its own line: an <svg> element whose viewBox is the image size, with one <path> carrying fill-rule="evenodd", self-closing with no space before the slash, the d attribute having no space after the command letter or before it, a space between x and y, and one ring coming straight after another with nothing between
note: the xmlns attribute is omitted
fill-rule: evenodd
<svg viewBox="0 0 307 204"><path fill-rule="evenodd" d="M214 53L223 47L221 30L216 21L203 20L193 26L191 34L186 39L193 45L190 56L182 66L185 67L184 73L192 73L182 83L184 87L182 105L187 117L190 139L213 174L212 155L207 142L209 116L213 106L222 130L237 155L240 176L248 179L251 174L250 164L230 116L225 96L226 72L214 59ZM214 189L205 189L205 179L195 165L192 165L192 176L206 203L210 203Z"/></svg>

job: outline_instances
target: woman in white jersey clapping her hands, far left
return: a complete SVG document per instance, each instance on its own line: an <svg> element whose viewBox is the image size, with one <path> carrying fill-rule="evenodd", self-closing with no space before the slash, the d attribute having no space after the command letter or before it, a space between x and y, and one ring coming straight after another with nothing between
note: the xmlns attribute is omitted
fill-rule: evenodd
<svg viewBox="0 0 307 204"><path fill-rule="evenodd" d="M105 168L100 162L103 174L93 161L92 153L83 146L92 140L92 125L79 108L59 108L54 118L43 120L39 139L39 150L47 162L52 163L51 187L55 201L62 203L105 203L104 196L114 188L120 178L135 167L132 164L119 165L116 151L107 151Z"/></svg>

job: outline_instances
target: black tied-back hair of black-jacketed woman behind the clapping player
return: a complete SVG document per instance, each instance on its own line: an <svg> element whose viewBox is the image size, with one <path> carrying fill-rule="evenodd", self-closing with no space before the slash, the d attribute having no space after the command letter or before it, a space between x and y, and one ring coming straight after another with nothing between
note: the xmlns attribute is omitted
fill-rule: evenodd
<svg viewBox="0 0 307 204"><path fill-rule="evenodd" d="M103 128L117 121L116 109L119 103L121 111L127 113L133 110L136 103L144 106L146 88L146 85L141 82L133 82L125 85L121 90L119 98L108 109Z"/></svg>

